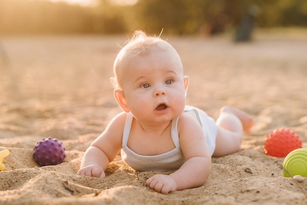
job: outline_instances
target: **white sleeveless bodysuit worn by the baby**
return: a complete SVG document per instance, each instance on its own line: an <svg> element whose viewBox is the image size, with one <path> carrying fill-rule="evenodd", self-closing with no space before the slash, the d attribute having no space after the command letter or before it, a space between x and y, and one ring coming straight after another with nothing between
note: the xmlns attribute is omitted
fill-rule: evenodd
<svg viewBox="0 0 307 205"><path fill-rule="evenodd" d="M192 106L186 106L184 112L190 113L200 122L205 133L205 138L209 147L210 154L212 156L215 149L215 139L217 135L217 126L214 120L211 117L208 117L204 111ZM132 119L132 114L127 113L123 134L123 148L121 150L123 161L136 171L166 171L179 169L185 162L183 153L180 148L177 130L179 117L172 120L171 128L172 139L176 147L171 151L154 156L137 154L127 146Z"/></svg>

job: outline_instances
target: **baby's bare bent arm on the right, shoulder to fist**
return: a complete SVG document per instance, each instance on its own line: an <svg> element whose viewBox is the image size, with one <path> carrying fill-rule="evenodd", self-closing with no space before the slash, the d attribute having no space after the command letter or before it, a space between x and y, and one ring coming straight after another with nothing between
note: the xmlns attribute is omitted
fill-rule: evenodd
<svg viewBox="0 0 307 205"><path fill-rule="evenodd" d="M211 156L199 122L183 113L179 117L178 132L185 163L169 176L154 175L147 180L150 188L162 194L201 186L210 174Z"/></svg>

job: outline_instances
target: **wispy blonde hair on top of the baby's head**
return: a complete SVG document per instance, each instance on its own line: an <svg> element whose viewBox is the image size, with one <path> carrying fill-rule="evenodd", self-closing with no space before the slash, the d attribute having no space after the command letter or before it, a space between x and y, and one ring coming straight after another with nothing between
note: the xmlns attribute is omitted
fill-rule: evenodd
<svg viewBox="0 0 307 205"><path fill-rule="evenodd" d="M179 58L179 55L173 46L165 40L162 40L160 36L148 36L144 31L136 30L132 38L121 49L114 61L114 77L111 78L113 88L121 88L120 80L122 78L122 71L125 68L125 63L140 54L151 51L153 48L158 48L161 50L173 50Z"/></svg>

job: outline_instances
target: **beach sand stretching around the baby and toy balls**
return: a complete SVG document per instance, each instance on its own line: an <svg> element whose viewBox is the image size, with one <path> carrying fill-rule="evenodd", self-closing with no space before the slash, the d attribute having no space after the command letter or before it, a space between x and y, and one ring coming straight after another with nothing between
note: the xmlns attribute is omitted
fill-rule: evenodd
<svg viewBox="0 0 307 205"><path fill-rule="evenodd" d="M296 131L307 148L305 34L256 33L253 42L240 44L229 36L162 35L190 77L189 105L215 119L221 106L230 105L256 121L241 151L212 158L204 185L168 195L146 186L156 172L134 172L120 156L105 179L76 175L86 148L120 112L109 78L126 36L2 37L10 62L0 64L0 150L10 155L0 172L0 204L307 204L307 178L295 183L284 177L284 158L263 153L265 136L278 127ZM47 137L60 140L67 157L40 167L33 147Z"/></svg>

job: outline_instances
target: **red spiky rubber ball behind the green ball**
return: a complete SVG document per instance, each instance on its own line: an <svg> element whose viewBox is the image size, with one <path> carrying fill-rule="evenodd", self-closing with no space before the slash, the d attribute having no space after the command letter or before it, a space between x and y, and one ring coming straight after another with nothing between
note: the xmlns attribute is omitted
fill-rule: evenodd
<svg viewBox="0 0 307 205"><path fill-rule="evenodd" d="M276 128L266 137L264 153L274 157L286 157L294 149L302 148L302 140L290 128Z"/></svg>

